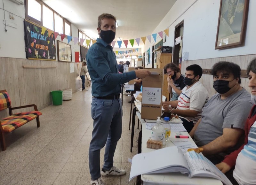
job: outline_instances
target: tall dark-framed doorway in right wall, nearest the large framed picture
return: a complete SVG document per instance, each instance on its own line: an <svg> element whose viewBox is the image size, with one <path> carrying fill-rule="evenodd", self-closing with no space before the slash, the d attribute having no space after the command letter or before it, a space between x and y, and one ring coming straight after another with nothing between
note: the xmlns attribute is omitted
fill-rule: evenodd
<svg viewBox="0 0 256 185"><path fill-rule="evenodd" d="M175 26L173 63L181 68L184 20Z"/></svg>

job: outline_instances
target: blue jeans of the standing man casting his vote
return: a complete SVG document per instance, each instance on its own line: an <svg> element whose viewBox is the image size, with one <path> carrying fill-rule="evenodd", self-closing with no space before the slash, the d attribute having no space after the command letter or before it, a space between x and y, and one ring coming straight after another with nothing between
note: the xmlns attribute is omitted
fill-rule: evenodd
<svg viewBox="0 0 256 185"><path fill-rule="evenodd" d="M89 148L89 167L92 180L96 180L100 178L100 149L105 144L103 169L108 171L113 166L116 144L122 134L123 110L120 98L105 100L93 97L91 116L93 131Z"/></svg>

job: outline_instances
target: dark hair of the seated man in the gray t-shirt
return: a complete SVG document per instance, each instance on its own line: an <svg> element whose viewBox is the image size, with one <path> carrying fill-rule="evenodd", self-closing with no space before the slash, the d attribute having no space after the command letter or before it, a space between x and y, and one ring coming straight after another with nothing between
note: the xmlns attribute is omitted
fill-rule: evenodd
<svg viewBox="0 0 256 185"><path fill-rule="evenodd" d="M241 68L233 62L221 61L212 66L211 74L214 76L217 72L226 72L233 74L234 78L238 78L238 83L241 84Z"/></svg>

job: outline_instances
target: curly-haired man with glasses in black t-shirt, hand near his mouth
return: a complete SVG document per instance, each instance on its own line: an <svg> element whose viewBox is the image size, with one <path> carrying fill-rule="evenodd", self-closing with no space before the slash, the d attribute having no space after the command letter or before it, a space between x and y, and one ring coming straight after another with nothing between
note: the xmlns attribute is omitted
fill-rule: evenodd
<svg viewBox="0 0 256 185"><path fill-rule="evenodd" d="M179 72L179 66L174 63L164 66L164 74L168 74L168 91L172 93L171 101L178 100L181 90L186 86L184 84L184 77Z"/></svg>

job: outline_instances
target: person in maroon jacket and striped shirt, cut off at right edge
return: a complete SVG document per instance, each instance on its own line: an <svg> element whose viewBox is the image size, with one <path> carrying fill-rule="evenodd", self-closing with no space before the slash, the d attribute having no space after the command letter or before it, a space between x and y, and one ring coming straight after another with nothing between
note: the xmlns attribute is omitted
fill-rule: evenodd
<svg viewBox="0 0 256 185"><path fill-rule="evenodd" d="M248 65L247 75L254 105L245 122L244 143L216 165L223 173L226 173L233 185L256 184L256 58Z"/></svg>

